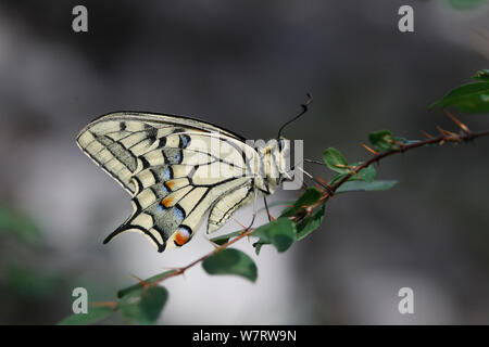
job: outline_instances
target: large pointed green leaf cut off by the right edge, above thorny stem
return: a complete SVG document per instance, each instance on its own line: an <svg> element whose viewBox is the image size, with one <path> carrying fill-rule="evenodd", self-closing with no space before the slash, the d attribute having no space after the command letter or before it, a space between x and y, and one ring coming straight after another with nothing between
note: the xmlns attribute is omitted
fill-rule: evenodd
<svg viewBox="0 0 489 347"><path fill-rule="evenodd" d="M428 110L455 106L462 112L489 112L489 82L480 81L463 85L448 92L439 101L432 103Z"/></svg>

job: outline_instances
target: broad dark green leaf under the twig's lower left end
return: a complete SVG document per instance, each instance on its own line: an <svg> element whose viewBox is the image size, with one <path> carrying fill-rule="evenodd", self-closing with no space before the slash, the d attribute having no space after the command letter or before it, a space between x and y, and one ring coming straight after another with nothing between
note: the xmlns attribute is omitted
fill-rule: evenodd
<svg viewBox="0 0 489 347"><path fill-rule="evenodd" d="M125 295L118 300L121 313L138 324L150 325L160 317L168 298L168 292L162 286L151 286Z"/></svg>

